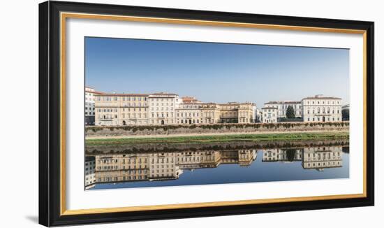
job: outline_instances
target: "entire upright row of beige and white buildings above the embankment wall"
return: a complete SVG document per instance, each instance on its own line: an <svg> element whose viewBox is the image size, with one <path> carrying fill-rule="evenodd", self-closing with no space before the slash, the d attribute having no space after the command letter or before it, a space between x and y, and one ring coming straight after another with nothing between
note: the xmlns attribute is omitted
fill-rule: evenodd
<svg viewBox="0 0 384 228"><path fill-rule="evenodd" d="M258 109L251 102L218 104L172 93L111 94L85 89L87 125L217 124L279 122L292 107L297 121L341 121L341 99L306 97L301 101L269 101Z"/></svg>

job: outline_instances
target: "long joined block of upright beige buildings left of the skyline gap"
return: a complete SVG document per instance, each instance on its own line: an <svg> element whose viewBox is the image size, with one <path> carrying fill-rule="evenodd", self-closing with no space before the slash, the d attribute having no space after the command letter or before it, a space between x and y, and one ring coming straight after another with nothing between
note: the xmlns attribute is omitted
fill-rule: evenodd
<svg viewBox="0 0 384 228"><path fill-rule="evenodd" d="M98 126L157 124L216 124L256 122L256 104L202 103L177 94L94 95L95 124Z"/></svg>

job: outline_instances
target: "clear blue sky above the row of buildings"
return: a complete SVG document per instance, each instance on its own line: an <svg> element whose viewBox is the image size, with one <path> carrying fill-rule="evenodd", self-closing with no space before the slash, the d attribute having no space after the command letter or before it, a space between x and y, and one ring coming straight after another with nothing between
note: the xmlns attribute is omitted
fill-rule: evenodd
<svg viewBox="0 0 384 228"><path fill-rule="evenodd" d="M200 101L349 103L349 50L85 38L85 82L102 92L174 92Z"/></svg>

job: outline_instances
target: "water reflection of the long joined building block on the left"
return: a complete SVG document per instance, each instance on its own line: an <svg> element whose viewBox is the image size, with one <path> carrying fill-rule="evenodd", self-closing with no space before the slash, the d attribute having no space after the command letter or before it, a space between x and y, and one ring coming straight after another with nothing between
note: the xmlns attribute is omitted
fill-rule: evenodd
<svg viewBox="0 0 384 228"><path fill-rule="evenodd" d="M201 150L184 152L133 152L95 155L86 160L86 189L95 183L140 180L175 180L184 169L215 168L220 164L249 166L256 150ZM87 169L92 167L91 169ZM89 176L91 175L91 176Z"/></svg>

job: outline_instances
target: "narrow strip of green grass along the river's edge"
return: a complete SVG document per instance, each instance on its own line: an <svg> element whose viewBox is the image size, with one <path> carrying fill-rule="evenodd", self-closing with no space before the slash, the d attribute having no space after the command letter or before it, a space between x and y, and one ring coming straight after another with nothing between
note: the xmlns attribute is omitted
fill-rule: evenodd
<svg viewBox="0 0 384 228"><path fill-rule="evenodd" d="M323 132L275 132L264 134L216 134L189 136L147 136L128 138L86 138L86 145L135 145L149 143L216 143L230 141L297 141L312 139L348 139L348 131Z"/></svg>

